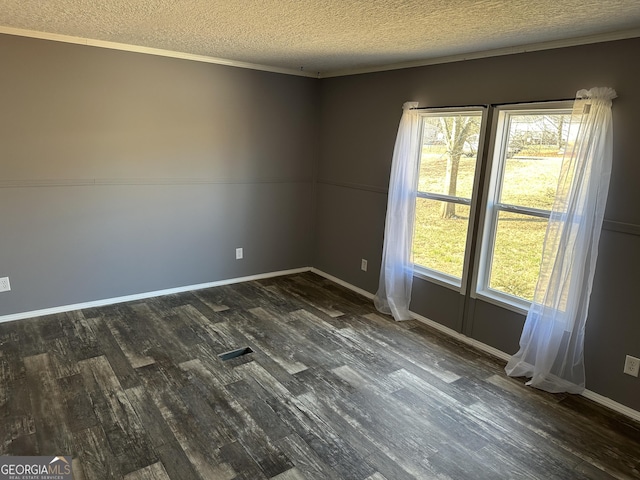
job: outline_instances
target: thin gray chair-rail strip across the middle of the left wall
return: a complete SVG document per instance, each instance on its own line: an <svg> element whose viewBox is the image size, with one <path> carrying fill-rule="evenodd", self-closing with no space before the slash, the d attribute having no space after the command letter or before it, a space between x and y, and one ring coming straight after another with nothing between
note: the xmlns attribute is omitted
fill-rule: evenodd
<svg viewBox="0 0 640 480"><path fill-rule="evenodd" d="M311 178L61 178L2 180L0 188L86 187L113 185L252 185L260 183L312 183Z"/></svg>

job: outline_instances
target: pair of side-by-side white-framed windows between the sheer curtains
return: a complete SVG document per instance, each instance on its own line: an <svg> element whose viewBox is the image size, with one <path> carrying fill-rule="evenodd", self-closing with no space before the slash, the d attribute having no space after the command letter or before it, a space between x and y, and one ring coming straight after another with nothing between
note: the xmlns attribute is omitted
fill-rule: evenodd
<svg viewBox="0 0 640 480"><path fill-rule="evenodd" d="M413 261L417 275L462 293L472 275L472 296L520 311L529 307L538 279L571 102L488 111L494 122L484 155L487 109L421 111ZM482 206L474 213L476 199Z"/></svg>

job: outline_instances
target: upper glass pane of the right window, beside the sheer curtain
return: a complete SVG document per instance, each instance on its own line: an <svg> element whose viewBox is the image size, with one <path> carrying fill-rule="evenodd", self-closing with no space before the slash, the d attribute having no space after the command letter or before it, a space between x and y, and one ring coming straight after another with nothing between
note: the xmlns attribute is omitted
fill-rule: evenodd
<svg viewBox="0 0 640 480"><path fill-rule="evenodd" d="M500 202L550 210L553 205L569 114L509 116Z"/></svg>

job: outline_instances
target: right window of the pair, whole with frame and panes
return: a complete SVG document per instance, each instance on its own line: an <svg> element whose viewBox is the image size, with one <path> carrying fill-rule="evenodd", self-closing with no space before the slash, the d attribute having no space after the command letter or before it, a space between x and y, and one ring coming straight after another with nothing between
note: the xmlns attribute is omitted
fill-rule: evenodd
<svg viewBox="0 0 640 480"><path fill-rule="evenodd" d="M528 308L538 279L571 108L498 109L477 291Z"/></svg>

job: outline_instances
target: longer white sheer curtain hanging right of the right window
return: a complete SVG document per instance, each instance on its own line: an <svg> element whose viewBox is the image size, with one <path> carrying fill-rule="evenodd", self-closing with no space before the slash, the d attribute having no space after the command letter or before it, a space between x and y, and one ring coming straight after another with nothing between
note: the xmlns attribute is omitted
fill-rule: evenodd
<svg viewBox="0 0 640 480"><path fill-rule="evenodd" d="M505 368L548 392L585 386L584 329L611 176L615 97L611 88L577 94L533 303L520 350Z"/></svg>

